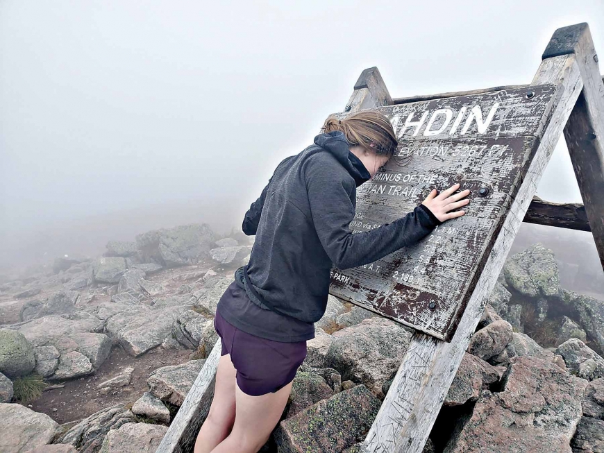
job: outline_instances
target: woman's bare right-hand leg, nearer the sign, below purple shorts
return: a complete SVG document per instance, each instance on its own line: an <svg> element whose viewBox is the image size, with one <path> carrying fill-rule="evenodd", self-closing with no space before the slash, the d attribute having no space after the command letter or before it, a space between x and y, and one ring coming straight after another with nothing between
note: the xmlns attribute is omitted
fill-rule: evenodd
<svg viewBox="0 0 604 453"><path fill-rule="evenodd" d="M243 393L235 385L237 416L233 431L224 441L212 450L212 453L256 453L269 440L275 429L287 398L292 390L292 382L275 393L251 396Z"/></svg>

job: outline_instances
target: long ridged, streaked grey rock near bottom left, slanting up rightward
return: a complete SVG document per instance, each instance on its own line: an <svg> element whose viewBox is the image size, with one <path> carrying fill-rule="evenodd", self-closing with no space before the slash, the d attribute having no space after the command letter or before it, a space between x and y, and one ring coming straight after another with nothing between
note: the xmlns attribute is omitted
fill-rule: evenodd
<svg viewBox="0 0 604 453"><path fill-rule="evenodd" d="M110 429L119 429L125 423L136 421L136 416L131 411L119 405L108 407L85 418L55 442L73 445L81 452L97 451ZM87 450L88 448L91 450Z"/></svg>

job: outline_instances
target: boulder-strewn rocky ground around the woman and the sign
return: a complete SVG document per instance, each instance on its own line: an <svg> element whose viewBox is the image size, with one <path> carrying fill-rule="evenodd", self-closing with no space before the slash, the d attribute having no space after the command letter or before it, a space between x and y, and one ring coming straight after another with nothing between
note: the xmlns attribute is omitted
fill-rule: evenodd
<svg viewBox="0 0 604 453"><path fill-rule="evenodd" d="M0 452L155 452L250 251L182 225L0 277ZM411 335L330 296L262 451L358 452ZM603 350L604 302L561 288L551 250L508 257L424 451L604 452Z"/></svg>

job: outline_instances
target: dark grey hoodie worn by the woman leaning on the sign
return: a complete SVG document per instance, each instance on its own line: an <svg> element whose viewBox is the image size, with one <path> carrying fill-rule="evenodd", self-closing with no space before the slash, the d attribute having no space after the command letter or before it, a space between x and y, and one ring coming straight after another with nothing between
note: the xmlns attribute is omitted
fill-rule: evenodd
<svg viewBox="0 0 604 453"><path fill-rule="evenodd" d="M351 154L343 133L317 135L314 145L278 164L251 204L242 229L255 234L255 243L249 264L237 272L247 277L245 289L256 305L315 323L326 310L332 266L375 262L441 223L419 205L392 223L353 234L356 187L369 173L359 171Z"/></svg>

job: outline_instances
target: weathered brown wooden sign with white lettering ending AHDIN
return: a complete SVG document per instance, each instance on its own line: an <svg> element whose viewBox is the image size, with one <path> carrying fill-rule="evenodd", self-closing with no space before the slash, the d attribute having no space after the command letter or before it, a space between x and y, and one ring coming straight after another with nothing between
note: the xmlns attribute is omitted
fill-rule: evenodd
<svg viewBox="0 0 604 453"><path fill-rule="evenodd" d="M470 189L470 203L414 246L358 268L332 268L330 293L450 341L535 155L554 92L538 85L371 109L389 117L399 147L358 187L353 234L404 216L430 190L456 182Z"/></svg>

